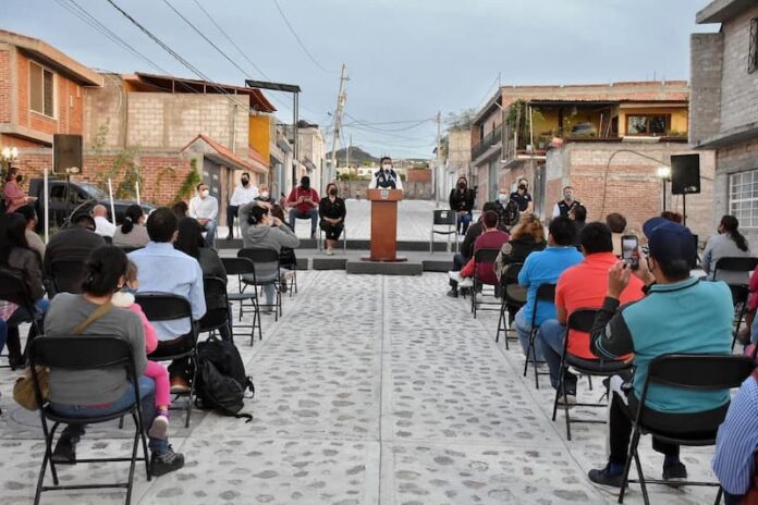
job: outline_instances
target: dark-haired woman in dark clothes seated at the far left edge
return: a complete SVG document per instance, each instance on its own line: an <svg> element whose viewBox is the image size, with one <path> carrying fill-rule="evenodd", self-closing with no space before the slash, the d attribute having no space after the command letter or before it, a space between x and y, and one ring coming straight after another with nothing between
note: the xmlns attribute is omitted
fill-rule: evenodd
<svg viewBox="0 0 758 505"><path fill-rule="evenodd" d="M32 322L33 319L41 321L48 307L48 300L44 299L42 264L39 255L29 247L26 241L26 219L16 212L0 218L0 268L16 272L26 283L26 292L33 300L36 300L35 313L24 307L19 307L8 301L0 301L0 317L8 327L8 360L11 368L16 369L24 365L25 353L21 352L21 338L19 325ZM28 342L36 335L35 327L29 330Z"/></svg>

